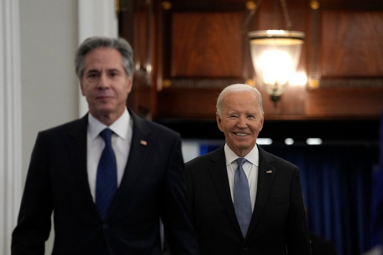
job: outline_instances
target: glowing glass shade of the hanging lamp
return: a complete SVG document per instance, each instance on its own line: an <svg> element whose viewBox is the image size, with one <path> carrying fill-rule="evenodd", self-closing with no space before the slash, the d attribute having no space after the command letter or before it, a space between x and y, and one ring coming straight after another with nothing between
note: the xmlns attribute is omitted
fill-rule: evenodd
<svg viewBox="0 0 383 255"><path fill-rule="evenodd" d="M298 67L304 33L261 30L251 31L248 36L255 74L271 99L277 101Z"/></svg>

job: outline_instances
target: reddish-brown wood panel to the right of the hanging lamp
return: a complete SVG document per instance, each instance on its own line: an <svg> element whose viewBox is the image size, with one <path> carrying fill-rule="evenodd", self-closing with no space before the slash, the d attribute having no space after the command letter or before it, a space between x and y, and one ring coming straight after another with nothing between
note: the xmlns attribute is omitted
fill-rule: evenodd
<svg viewBox="0 0 383 255"><path fill-rule="evenodd" d="M382 88L383 51L379 38L383 30L374 26L381 23L383 10L367 12L357 9L355 3L351 6L352 11L348 5L342 7L339 1L310 2L308 87L311 89Z"/></svg>

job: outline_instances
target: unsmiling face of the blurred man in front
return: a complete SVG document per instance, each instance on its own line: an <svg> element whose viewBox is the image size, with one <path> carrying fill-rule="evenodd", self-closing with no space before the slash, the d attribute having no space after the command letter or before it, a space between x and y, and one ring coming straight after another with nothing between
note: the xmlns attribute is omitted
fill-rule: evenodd
<svg viewBox="0 0 383 255"><path fill-rule="evenodd" d="M80 85L89 112L109 126L125 110L132 77L126 76L121 54L116 49L100 47L85 56Z"/></svg>

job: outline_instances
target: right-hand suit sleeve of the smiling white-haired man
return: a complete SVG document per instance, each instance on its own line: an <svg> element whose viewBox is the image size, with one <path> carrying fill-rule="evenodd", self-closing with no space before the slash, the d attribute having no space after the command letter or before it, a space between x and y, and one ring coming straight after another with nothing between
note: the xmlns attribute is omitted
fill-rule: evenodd
<svg viewBox="0 0 383 255"><path fill-rule="evenodd" d="M286 234L288 254L311 255L310 237L304 212L299 168L295 168L290 189L290 210Z"/></svg>

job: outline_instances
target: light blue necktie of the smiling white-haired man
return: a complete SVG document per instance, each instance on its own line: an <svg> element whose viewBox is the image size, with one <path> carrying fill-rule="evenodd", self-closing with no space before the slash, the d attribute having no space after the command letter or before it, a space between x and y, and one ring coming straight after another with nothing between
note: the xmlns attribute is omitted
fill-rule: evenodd
<svg viewBox="0 0 383 255"><path fill-rule="evenodd" d="M236 211L242 235L245 238L252 215L249 181L247 180L246 174L242 168L242 165L247 160L245 158L238 158L236 161L238 167L234 173L234 210Z"/></svg>

